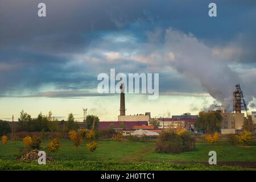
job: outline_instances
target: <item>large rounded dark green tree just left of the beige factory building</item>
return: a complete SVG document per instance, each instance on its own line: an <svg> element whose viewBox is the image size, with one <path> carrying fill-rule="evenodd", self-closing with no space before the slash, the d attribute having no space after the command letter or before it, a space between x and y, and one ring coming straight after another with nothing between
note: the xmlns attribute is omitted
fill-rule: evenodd
<svg viewBox="0 0 256 182"><path fill-rule="evenodd" d="M222 117L220 113L201 111L199 118L196 119L195 127L199 131L203 131L203 133L213 134L215 131L220 131L221 122Z"/></svg>

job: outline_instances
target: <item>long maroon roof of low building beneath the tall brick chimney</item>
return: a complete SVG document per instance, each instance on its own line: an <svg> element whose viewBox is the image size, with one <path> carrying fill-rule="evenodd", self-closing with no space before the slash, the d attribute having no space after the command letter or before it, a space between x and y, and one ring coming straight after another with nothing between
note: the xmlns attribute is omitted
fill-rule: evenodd
<svg viewBox="0 0 256 182"><path fill-rule="evenodd" d="M99 129L108 128L111 124L114 128L119 128L119 125L125 124L125 129L131 130L134 126L147 125L147 121L100 121Z"/></svg>

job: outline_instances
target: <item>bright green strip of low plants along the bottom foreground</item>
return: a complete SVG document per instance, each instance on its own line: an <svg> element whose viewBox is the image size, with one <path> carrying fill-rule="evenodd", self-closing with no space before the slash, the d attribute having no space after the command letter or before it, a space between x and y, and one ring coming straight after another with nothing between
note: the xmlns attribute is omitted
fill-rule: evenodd
<svg viewBox="0 0 256 182"><path fill-rule="evenodd" d="M57 162L47 163L47 165L39 165L36 162L23 163L14 162L13 160L0 160L0 170L19 170L19 171L38 171L38 170L114 170L114 171L194 171L194 170L206 170L206 171L230 171L230 170L252 170L241 167L231 166L204 166L201 164L171 164L171 163L149 163L149 162L95 162L95 161L81 161L81 160L63 160Z"/></svg>

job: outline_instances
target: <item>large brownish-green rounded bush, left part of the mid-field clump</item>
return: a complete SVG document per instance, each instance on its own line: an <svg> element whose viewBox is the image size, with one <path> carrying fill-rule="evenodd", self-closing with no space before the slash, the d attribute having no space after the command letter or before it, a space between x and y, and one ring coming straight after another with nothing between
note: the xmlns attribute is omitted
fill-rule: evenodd
<svg viewBox="0 0 256 182"><path fill-rule="evenodd" d="M156 141L156 151L165 153L181 153L182 139L174 131L164 131Z"/></svg>

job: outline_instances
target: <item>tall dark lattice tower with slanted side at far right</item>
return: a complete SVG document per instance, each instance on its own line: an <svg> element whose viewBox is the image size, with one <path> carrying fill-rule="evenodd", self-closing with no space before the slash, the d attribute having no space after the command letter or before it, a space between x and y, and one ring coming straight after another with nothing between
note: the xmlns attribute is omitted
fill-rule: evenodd
<svg viewBox="0 0 256 182"><path fill-rule="evenodd" d="M246 115L248 115L247 113L247 106L245 103L245 97L243 97L243 92L241 90L240 84L236 85L236 91L233 92L233 111L235 111L236 113L241 113L242 110L246 111Z"/></svg>

